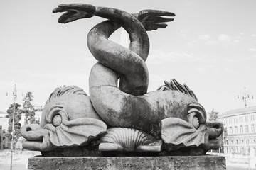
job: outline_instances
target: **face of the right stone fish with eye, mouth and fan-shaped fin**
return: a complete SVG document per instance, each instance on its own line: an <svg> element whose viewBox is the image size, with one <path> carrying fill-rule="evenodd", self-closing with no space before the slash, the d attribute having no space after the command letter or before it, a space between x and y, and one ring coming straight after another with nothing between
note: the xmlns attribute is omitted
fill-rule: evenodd
<svg viewBox="0 0 256 170"><path fill-rule="evenodd" d="M188 106L188 122L179 118L161 120L161 138L169 145L169 150L180 147L218 149L221 142L216 138L223 130L222 123L206 121L206 111L199 103Z"/></svg>

